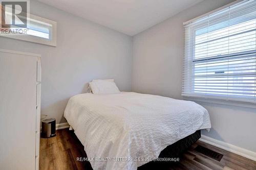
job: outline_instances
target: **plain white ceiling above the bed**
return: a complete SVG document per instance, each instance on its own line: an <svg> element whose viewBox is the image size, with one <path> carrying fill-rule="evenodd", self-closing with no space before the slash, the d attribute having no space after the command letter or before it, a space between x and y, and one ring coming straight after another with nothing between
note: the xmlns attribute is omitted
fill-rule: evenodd
<svg viewBox="0 0 256 170"><path fill-rule="evenodd" d="M133 36L203 0L38 1Z"/></svg>

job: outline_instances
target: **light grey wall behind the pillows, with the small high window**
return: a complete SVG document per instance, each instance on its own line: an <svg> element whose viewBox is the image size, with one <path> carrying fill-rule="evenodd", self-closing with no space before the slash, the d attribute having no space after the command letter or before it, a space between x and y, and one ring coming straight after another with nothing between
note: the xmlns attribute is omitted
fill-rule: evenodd
<svg viewBox="0 0 256 170"><path fill-rule="evenodd" d="M114 78L131 90L132 38L37 1L31 13L57 22L57 47L0 37L0 48L41 54L41 114L63 123L68 99L92 79ZM17 70L18 71L18 70Z"/></svg>

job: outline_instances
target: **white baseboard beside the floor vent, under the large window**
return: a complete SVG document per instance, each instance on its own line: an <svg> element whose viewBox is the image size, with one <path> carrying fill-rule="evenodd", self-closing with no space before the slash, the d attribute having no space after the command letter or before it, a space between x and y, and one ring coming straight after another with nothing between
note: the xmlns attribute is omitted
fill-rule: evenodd
<svg viewBox="0 0 256 170"><path fill-rule="evenodd" d="M232 153L235 153L235 154L241 155L243 157L246 157L248 159L256 161L256 153L255 152L237 147L235 145L232 145L232 144L220 141L220 140L213 139L213 138L205 136L205 135L201 135L201 138L199 140L202 142L214 145L215 147L221 148L223 150L226 150L226 151L229 151L229 152L232 152Z"/></svg>

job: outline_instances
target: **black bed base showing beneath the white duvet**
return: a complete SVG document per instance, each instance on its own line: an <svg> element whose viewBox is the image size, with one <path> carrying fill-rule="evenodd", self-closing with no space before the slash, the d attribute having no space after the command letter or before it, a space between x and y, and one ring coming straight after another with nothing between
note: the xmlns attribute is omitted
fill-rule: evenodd
<svg viewBox="0 0 256 170"><path fill-rule="evenodd" d="M159 158L180 158L180 156L194 144L201 137L201 130L178 140L177 142L168 145L159 155ZM168 169L168 166L172 163L177 162L163 162L163 161L151 161L140 167L138 170L142 169Z"/></svg>

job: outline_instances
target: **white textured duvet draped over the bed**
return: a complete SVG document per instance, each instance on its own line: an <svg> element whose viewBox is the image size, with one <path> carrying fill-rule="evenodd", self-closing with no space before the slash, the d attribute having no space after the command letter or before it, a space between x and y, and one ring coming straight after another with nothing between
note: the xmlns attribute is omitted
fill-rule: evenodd
<svg viewBox="0 0 256 170"><path fill-rule="evenodd" d="M207 110L194 102L134 92L75 95L64 116L95 170L137 169L168 145L211 127Z"/></svg>

